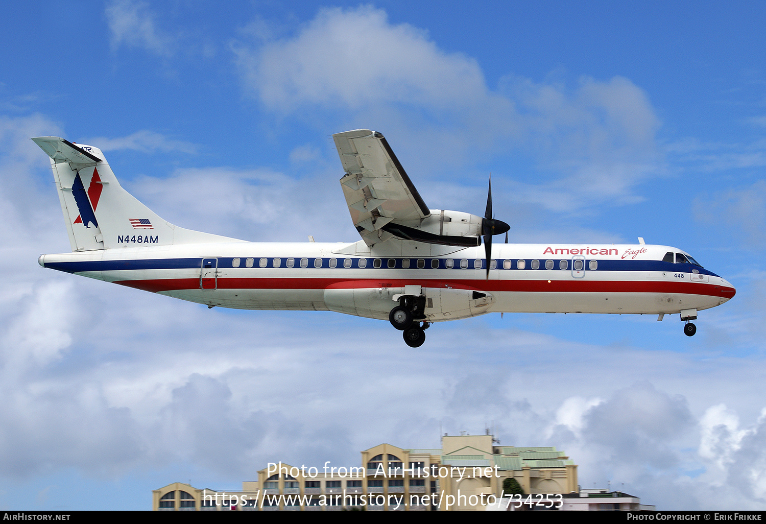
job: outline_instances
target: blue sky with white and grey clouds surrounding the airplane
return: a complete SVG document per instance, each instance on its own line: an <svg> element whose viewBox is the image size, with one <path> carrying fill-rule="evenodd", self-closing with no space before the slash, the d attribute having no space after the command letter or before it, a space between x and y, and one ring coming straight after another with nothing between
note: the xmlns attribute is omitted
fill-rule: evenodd
<svg viewBox="0 0 766 524"><path fill-rule="evenodd" d="M0 32L0 508L150 509L267 462L440 434L556 446L658 509L766 504L766 38L758 2L22 2ZM46 270L32 136L103 150L174 224L358 241L332 133L383 133L430 208L510 242L679 247L732 282L678 317L235 311Z"/></svg>

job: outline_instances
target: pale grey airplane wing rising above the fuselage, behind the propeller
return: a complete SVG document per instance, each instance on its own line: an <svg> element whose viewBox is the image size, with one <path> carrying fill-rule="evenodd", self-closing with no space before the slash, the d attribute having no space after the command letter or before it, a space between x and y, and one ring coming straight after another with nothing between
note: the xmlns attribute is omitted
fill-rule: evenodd
<svg viewBox="0 0 766 524"><path fill-rule="evenodd" d="M352 221L368 246L393 236L391 221L417 221L428 206L381 133L356 129L332 135L345 170L340 179Z"/></svg>

